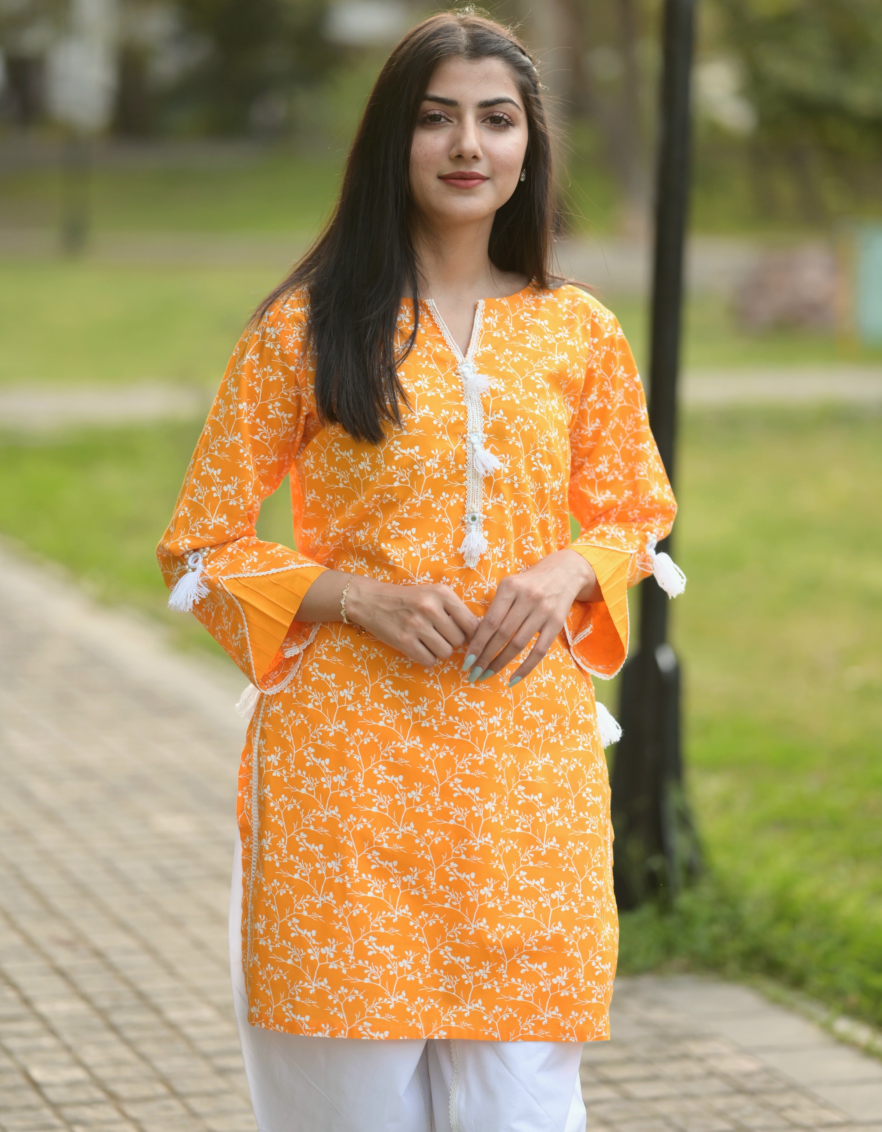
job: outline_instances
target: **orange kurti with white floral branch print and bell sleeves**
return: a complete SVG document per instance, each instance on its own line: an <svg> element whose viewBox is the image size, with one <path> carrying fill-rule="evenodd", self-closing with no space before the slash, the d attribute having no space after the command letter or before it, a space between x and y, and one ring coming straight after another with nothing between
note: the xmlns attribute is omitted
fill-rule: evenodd
<svg viewBox="0 0 882 1132"><path fill-rule="evenodd" d="M371 446L317 419L306 318L294 294L243 335L159 551L171 585L206 548L195 612L263 693L239 791L251 1022L606 1038L617 919L589 674L620 668L626 588L675 512L631 351L574 286L479 303L465 359L421 301L410 409ZM255 535L288 472L297 550ZM514 688L293 620L325 567L444 582L480 615L570 544L568 511L605 600L574 603Z"/></svg>

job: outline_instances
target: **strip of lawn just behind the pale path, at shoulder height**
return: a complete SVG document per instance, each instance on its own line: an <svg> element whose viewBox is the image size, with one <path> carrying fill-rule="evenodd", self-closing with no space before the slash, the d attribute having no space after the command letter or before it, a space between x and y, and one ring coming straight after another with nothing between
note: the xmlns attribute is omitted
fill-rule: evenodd
<svg viewBox="0 0 882 1132"><path fill-rule="evenodd" d="M282 274L0 261L0 384L156 379L214 389L250 311ZM645 305L606 301L643 360ZM695 367L882 360L882 349L822 334L745 334L713 295L693 300L686 331L685 360Z"/></svg>

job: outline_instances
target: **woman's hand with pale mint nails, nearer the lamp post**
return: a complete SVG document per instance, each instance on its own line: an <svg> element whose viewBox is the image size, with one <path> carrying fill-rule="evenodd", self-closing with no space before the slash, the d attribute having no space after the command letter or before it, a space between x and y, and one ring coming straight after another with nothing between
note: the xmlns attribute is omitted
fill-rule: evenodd
<svg viewBox="0 0 882 1132"><path fill-rule="evenodd" d="M531 672L564 627L574 601L601 601L597 575L576 550L557 550L536 566L499 583L471 640L463 670L469 679L500 672L539 634L508 686Z"/></svg>

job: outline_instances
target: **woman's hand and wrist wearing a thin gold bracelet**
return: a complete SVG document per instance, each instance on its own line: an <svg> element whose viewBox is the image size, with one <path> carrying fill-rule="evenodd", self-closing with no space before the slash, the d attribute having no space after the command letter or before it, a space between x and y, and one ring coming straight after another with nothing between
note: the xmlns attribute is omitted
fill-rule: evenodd
<svg viewBox="0 0 882 1132"><path fill-rule="evenodd" d="M426 668L447 660L471 641L480 625L449 586L394 585L331 569L309 586L297 620L341 620L340 597L350 577L346 618Z"/></svg>

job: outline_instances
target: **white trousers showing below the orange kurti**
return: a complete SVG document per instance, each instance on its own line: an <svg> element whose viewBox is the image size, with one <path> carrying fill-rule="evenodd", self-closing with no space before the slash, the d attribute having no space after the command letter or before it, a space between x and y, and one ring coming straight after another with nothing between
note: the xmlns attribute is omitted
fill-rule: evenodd
<svg viewBox="0 0 882 1132"><path fill-rule="evenodd" d="M242 849L230 968L260 1132L584 1132L579 1041L307 1038L248 1022Z"/></svg>

